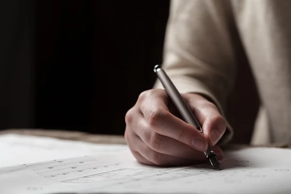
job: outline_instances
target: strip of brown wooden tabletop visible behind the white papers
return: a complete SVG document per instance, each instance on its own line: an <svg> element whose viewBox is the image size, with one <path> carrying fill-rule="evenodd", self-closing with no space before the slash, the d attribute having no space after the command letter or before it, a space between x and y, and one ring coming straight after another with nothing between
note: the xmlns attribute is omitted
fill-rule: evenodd
<svg viewBox="0 0 291 194"><path fill-rule="evenodd" d="M76 141L84 141L100 144L127 144L123 135L105 135L105 134L91 134L82 131L69 131L58 129L6 129L0 130L1 134L23 134L32 136L45 136L58 139L68 139ZM287 147L286 144L270 144L262 145L264 147ZM250 147L250 145L230 144L224 146L224 149L240 149Z"/></svg>

